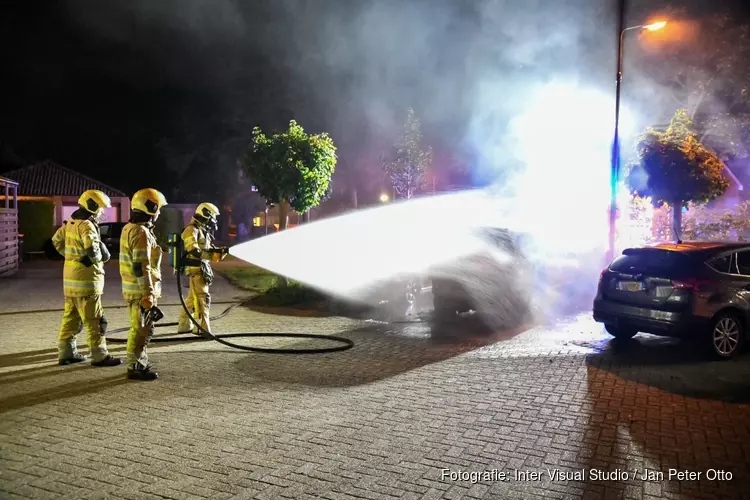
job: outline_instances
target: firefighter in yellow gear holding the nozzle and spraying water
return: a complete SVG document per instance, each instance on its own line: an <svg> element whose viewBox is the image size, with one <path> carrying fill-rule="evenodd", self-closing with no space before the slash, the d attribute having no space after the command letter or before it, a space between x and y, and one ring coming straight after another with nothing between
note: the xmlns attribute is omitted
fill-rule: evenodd
<svg viewBox="0 0 750 500"><path fill-rule="evenodd" d="M209 287L213 281L211 261L222 260L227 255L226 247L213 245L214 232L219 225L216 219L218 216L219 209L216 205L201 203L195 209L195 215L190 224L182 232L182 245L185 251L182 265L190 283L190 292L185 305L201 328L207 332L211 332L209 320L211 309ZM201 333L183 309L180 312L177 331L189 332L191 328L194 334Z"/></svg>

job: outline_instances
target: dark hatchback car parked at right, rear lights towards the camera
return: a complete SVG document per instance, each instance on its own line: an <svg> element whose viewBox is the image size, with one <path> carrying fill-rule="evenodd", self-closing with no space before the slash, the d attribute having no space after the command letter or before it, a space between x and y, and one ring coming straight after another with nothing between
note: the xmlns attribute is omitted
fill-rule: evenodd
<svg viewBox="0 0 750 500"><path fill-rule="evenodd" d="M750 243L627 249L602 271L594 319L619 339L693 338L719 358L736 356L750 326Z"/></svg>

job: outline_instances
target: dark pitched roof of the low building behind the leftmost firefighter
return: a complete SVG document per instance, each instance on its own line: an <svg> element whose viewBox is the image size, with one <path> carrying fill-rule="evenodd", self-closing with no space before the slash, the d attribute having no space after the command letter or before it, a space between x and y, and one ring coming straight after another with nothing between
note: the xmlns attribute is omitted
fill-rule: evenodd
<svg viewBox="0 0 750 500"><path fill-rule="evenodd" d="M18 196L80 196L87 189L98 189L110 197L127 197L118 189L49 160L3 176L18 182Z"/></svg>

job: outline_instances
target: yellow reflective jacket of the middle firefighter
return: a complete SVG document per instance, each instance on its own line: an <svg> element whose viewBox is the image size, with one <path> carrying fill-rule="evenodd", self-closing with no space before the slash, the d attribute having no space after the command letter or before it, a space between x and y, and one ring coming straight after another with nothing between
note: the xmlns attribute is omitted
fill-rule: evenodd
<svg viewBox="0 0 750 500"><path fill-rule="evenodd" d="M129 222L120 236L120 277L125 300L161 297L162 250L150 222Z"/></svg>

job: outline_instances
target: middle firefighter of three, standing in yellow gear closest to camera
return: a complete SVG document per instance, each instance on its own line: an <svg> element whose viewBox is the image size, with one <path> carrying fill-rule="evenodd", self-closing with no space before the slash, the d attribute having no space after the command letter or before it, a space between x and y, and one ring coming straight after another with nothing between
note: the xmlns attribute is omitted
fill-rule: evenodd
<svg viewBox="0 0 750 500"><path fill-rule="evenodd" d="M162 250L154 235L154 222L167 204L156 189L141 189L133 195L130 221L120 236L122 296L128 305L128 378L154 380L158 374L148 362L146 346L154 333L153 313L160 313Z"/></svg>

